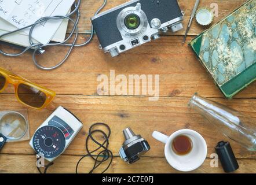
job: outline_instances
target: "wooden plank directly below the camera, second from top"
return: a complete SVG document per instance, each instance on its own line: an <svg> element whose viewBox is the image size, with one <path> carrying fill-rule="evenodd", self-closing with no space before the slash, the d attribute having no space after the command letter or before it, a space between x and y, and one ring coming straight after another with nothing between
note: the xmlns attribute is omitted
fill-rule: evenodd
<svg viewBox="0 0 256 185"><path fill-rule="evenodd" d="M188 39L192 39L189 37ZM82 42L83 36L79 36ZM32 63L30 53L21 57L0 56L0 66L42 84L57 94L96 95L98 75L115 74L160 75L161 97L191 97L199 92L205 97L224 97L213 79L206 72L189 46L182 46L182 36L164 36L155 42L147 43L127 51L116 58L99 50L97 38L90 45L75 48L67 62L54 71L42 71ZM67 48L66 48L67 49ZM64 56L64 47L47 50L39 60L41 64L52 64ZM9 48L9 51L13 49ZM49 66L49 65L48 65ZM141 84L140 84L141 86ZM5 92L13 92L9 88ZM237 98L255 98L256 83L240 92Z"/></svg>

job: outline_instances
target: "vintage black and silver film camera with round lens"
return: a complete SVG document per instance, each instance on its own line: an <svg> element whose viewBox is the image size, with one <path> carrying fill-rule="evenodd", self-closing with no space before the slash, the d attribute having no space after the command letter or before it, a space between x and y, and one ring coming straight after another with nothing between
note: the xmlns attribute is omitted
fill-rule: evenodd
<svg viewBox="0 0 256 185"><path fill-rule="evenodd" d="M132 0L92 17L100 49L112 57L183 28L177 0Z"/></svg>

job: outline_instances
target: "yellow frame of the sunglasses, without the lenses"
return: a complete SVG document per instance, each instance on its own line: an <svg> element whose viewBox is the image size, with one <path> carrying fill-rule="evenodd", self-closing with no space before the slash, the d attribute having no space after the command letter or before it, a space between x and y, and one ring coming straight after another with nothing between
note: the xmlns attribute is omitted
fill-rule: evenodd
<svg viewBox="0 0 256 185"><path fill-rule="evenodd" d="M5 77L5 85L3 86L2 89L0 89L0 92L2 92L3 90L5 90L5 88L8 86L8 84L13 84L14 86L14 90L15 90L15 95L17 100L22 103L25 106L28 106L32 109L37 109L37 110L41 110L43 108L46 108L54 99L56 92L49 90L48 88L39 86L38 84L32 83L30 80L24 79L23 77L17 76L14 73L7 71L3 68L0 68L0 74ZM37 90L45 93L46 95L46 100L45 103L43 103L43 105L41 106L41 108L35 108L33 106L28 105L27 103L23 102L20 100L19 98L19 94L18 94L18 87L20 84L25 84L27 86L36 88Z"/></svg>

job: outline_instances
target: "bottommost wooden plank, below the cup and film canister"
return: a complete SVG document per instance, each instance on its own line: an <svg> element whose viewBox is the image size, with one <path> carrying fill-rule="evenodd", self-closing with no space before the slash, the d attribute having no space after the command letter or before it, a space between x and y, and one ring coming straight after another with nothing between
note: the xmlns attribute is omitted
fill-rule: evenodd
<svg viewBox="0 0 256 185"><path fill-rule="evenodd" d="M61 156L54 161L47 173L75 173L75 166L81 156ZM36 157L34 155L10 155L0 154L0 173L38 173L36 169ZM211 159L206 159L200 168L192 173L223 173L221 164L218 167L210 166ZM255 160L237 160L239 169L234 173L255 173ZM92 169L94 161L91 158L85 158L78 168L79 173L87 173ZM104 170L107 164L98 167L94 173ZM119 157L114 157L112 165L107 173L181 173L173 169L163 157L142 157L140 161L133 165L128 165Z"/></svg>

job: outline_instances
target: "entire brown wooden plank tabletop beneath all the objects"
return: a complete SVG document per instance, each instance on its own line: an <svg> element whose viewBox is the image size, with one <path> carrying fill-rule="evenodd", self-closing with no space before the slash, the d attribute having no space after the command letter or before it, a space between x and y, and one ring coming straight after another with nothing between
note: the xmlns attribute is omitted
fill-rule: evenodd
<svg viewBox="0 0 256 185"><path fill-rule="evenodd" d="M113 8L126 0L108 0L104 10ZM219 16L214 18L216 23L232 10L242 5L244 0L201 0L199 7L209 7L211 3L218 3ZM185 11L184 27L186 27L195 1L179 1L181 9ZM79 42L85 41L83 34L90 28L89 17L101 5L101 1L83 1L81 6L81 21L79 24ZM204 28L193 22L187 42L203 31ZM69 29L70 30L70 29ZM92 43L85 47L75 48L60 68L54 71L42 71L35 67L31 60L31 53L21 57L11 58L0 56L0 66L17 75L30 79L56 91L54 99L56 106L70 109L83 122L82 131L65 153L54 161L49 168L50 173L74 173L76 162L85 154L85 138L90 125L96 122L107 123L112 130L109 148L115 157L108 173L178 173L167 164L164 158L164 145L152 138L153 131L165 134L183 128L195 129L206 139L208 146L207 159L196 169L195 173L222 173L222 167L210 167L210 155L214 153L214 146L220 140L226 140L217 129L187 107L189 98L195 93L224 103L251 117L256 117L256 83L251 84L231 101L228 101L214 85L203 66L197 60L188 45L182 46L185 30L163 35L155 42L147 43L116 58L104 54L98 49L98 39L94 36ZM3 48L3 46L1 46ZM5 47L5 50L15 51ZM63 57L65 47L55 47L47 50L40 60L42 64L52 64ZM115 70L116 75L160 75L159 101L149 102L147 96L99 96L97 95L97 76ZM13 87L8 87L0 95L1 110L19 110L25 108L14 98ZM50 116L52 112L28 109L30 135L34 134ZM148 140L151 150L136 164L127 165L120 160L118 150L124 141L122 129L131 127L134 132L141 134ZM103 139L98 136L97 139ZM235 142L231 145L239 162L240 168L236 173L256 172L256 153L249 152ZM28 141L7 143L0 154L1 173L37 173L36 157ZM89 172L93 161L86 158L79 172ZM96 172L100 172L104 165Z"/></svg>

